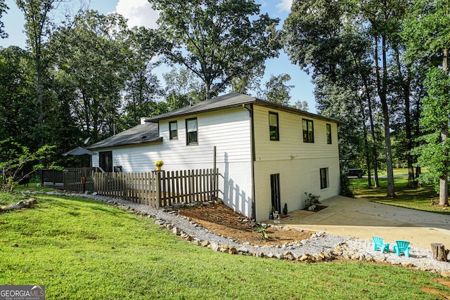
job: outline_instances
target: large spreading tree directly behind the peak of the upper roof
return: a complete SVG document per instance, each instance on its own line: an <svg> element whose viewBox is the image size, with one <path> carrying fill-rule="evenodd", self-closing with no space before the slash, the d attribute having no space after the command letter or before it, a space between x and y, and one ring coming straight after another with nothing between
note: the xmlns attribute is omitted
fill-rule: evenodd
<svg viewBox="0 0 450 300"><path fill-rule="evenodd" d="M281 49L279 20L260 14L254 0L148 1L161 11L162 53L200 77L207 99L254 74Z"/></svg>

